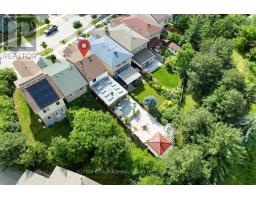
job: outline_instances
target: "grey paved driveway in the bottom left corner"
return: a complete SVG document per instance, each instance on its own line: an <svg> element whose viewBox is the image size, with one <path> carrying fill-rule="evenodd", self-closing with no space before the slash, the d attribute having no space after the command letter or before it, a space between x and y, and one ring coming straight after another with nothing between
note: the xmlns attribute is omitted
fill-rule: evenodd
<svg viewBox="0 0 256 200"><path fill-rule="evenodd" d="M15 185L21 175L21 172L11 170L0 171L0 185Z"/></svg>

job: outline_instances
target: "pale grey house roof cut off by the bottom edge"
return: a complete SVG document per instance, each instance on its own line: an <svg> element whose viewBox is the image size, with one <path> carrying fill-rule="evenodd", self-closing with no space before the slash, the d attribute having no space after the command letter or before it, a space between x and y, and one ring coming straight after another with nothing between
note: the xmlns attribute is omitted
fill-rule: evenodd
<svg viewBox="0 0 256 200"><path fill-rule="evenodd" d="M99 185L99 183L56 166L49 178L26 170L16 185Z"/></svg>

